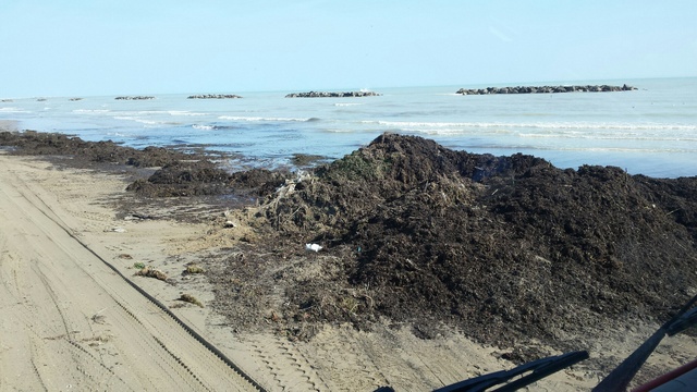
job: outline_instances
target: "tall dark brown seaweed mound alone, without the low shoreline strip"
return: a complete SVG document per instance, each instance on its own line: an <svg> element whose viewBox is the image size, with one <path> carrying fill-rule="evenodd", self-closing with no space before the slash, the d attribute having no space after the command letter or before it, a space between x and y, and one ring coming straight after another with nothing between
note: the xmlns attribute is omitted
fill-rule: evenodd
<svg viewBox="0 0 697 392"><path fill-rule="evenodd" d="M445 323L506 346L664 319L695 290L696 177L561 170L384 134L257 218L337 256L331 275L288 290L295 319L388 317L426 338ZM322 306L327 279L353 290L350 309Z"/></svg>

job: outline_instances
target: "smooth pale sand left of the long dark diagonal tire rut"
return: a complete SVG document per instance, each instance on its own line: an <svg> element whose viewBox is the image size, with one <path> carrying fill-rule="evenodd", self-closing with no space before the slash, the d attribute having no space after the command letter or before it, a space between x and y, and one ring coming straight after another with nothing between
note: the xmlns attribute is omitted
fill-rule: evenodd
<svg viewBox="0 0 697 392"><path fill-rule="evenodd" d="M0 271L9 294L0 296L3 388L260 390L110 269L75 236L70 216L51 207L51 193L23 179L22 162L15 167L0 172Z"/></svg>

